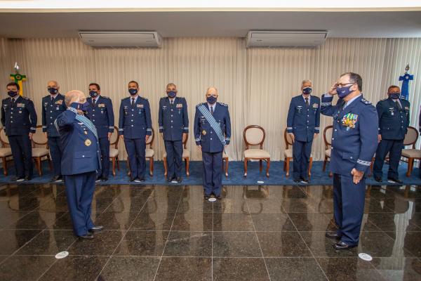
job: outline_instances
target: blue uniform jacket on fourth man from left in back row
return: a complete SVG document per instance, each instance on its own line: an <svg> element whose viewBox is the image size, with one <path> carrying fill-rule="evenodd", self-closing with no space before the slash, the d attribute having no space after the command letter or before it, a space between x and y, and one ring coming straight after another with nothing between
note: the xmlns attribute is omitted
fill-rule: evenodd
<svg viewBox="0 0 421 281"><path fill-rule="evenodd" d="M152 120L149 101L138 96L132 107L131 98L121 100L119 116L119 135L124 138L145 138L152 135Z"/></svg>

